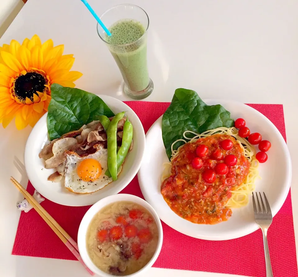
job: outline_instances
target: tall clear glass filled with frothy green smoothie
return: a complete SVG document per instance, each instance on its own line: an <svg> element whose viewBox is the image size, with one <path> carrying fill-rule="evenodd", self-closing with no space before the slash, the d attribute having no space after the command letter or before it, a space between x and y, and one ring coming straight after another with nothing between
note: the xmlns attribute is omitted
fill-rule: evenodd
<svg viewBox="0 0 298 277"><path fill-rule="evenodd" d="M146 98L153 90L147 67L147 13L136 5L122 4L104 12L100 19L112 37L108 37L98 23L97 33L120 69L124 93L132 99Z"/></svg>

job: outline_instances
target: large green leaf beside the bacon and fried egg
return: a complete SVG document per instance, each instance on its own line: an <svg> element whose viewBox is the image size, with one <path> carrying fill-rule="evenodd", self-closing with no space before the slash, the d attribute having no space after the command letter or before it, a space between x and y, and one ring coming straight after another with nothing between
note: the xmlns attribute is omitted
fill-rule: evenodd
<svg viewBox="0 0 298 277"><path fill-rule="evenodd" d="M99 115L114 116L101 98L84 90L53 84L51 97L47 115L47 130L51 141L98 120Z"/></svg>

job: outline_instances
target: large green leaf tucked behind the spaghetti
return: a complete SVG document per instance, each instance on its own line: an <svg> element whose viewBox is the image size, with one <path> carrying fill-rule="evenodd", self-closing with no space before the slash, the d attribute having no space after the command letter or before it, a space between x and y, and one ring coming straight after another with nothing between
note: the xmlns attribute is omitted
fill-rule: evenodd
<svg viewBox="0 0 298 277"><path fill-rule="evenodd" d="M202 133L218 127L233 127L234 120L221 105L206 105L193 90L177 89L169 108L162 117L162 139L168 158L171 158L171 145L183 139L184 131ZM177 149L183 142L177 142Z"/></svg>

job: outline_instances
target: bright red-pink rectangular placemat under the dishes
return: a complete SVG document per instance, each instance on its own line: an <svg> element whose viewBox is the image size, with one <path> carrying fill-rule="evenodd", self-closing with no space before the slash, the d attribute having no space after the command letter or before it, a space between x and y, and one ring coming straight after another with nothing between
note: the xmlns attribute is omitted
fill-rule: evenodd
<svg viewBox="0 0 298 277"><path fill-rule="evenodd" d="M138 115L145 132L162 115L169 103L126 102ZM286 139L282 105L249 104L269 118ZM28 183L28 192L34 188ZM143 198L137 176L122 191ZM89 206L68 207L45 200L42 206L76 240L79 224ZM162 224L164 242L153 266L170 269L208 271L255 277L265 277L265 260L260 230L228 241L205 241L178 233ZM298 277L293 215L290 193L274 217L268 232L273 275ZM35 210L21 213L12 254L75 260L68 248L48 227Z"/></svg>

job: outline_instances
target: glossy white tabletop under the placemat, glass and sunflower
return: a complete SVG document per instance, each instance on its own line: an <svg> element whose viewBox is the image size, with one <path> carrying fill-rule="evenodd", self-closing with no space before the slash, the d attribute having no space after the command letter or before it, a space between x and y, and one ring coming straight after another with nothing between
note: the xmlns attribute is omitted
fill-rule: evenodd
<svg viewBox="0 0 298 277"><path fill-rule="evenodd" d="M124 1L125 2L125 1ZM293 178L294 228L298 230L298 2L296 0L130 0L150 18L148 62L154 91L148 101L170 101L178 87L196 90L201 98L243 103L283 104ZM89 0L98 14L120 0ZM128 100L120 91L121 75L99 39L96 22L79 0L29 0L0 39L23 41L38 34L73 53L73 70L84 75L76 86ZM25 186L24 149L30 127L0 127L0 276L88 276L75 261L12 256L22 199L11 186L14 176ZM297 243L296 243L297 247ZM180 276L181 271L152 268L143 276ZM183 276L232 275L183 272ZM235 276L235 275L233 275Z"/></svg>

